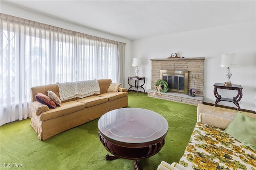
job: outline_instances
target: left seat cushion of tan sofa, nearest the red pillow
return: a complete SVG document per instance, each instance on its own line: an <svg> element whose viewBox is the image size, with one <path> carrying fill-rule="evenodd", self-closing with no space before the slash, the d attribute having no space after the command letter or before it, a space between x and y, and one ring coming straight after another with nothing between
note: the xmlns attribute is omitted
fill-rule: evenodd
<svg viewBox="0 0 256 170"><path fill-rule="evenodd" d="M80 111L85 109L86 104L77 102L77 101L69 101L62 103L61 106L57 106L55 109L50 109L50 111L46 111L41 113L40 121L45 121L48 119L53 119L55 117L60 117L62 115L67 115L76 111Z"/></svg>

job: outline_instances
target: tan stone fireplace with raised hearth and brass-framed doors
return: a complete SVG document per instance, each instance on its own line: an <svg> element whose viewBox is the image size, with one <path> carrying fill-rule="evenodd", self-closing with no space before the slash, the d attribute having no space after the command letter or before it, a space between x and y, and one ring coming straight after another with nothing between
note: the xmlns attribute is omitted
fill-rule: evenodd
<svg viewBox="0 0 256 170"><path fill-rule="evenodd" d="M204 57L150 59L152 61L152 77L148 96L190 105L203 103L204 59ZM195 77L194 81L192 81L192 77ZM158 79L164 79L168 85L171 85L169 85L169 91L161 93L161 96L158 93L153 95L154 84ZM194 89L196 89L195 96L188 95L192 89L192 82Z"/></svg>

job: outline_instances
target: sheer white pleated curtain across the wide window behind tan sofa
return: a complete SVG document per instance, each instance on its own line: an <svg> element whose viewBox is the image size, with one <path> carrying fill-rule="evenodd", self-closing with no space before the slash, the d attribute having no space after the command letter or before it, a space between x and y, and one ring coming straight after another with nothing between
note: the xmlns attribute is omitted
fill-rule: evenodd
<svg viewBox="0 0 256 170"><path fill-rule="evenodd" d="M125 43L0 14L0 125L31 117L30 88L110 78L124 85Z"/></svg>

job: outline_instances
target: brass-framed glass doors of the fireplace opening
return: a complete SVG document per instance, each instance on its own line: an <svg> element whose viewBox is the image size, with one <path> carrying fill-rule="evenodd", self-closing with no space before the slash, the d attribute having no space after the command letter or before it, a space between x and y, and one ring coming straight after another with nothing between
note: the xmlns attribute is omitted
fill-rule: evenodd
<svg viewBox="0 0 256 170"><path fill-rule="evenodd" d="M170 92L188 94L188 71L160 70L160 77L167 81Z"/></svg>

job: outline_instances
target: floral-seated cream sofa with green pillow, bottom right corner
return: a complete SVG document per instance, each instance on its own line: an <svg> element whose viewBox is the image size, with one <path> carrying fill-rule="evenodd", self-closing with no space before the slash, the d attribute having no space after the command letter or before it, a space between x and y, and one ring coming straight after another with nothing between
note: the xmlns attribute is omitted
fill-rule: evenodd
<svg viewBox="0 0 256 170"><path fill-rule="evenodd" d="M256 170L256 114L198 104L197 123L180 162L158 170Z"/></svg>

